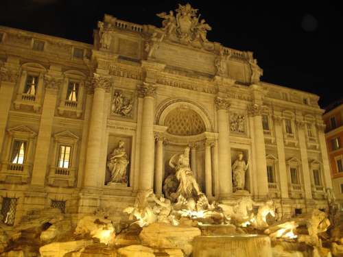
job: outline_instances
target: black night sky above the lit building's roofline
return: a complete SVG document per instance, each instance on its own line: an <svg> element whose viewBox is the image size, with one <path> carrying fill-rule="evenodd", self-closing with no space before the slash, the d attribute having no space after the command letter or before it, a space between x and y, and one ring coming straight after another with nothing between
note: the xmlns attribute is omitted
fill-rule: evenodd
<svg viewBox="0 0 343 257"><path fill-rule="evenodd" d="M92 43L105 13L161 27L156 13L187 2L211 25L209 40L254 52L263 81L315 93L322 108L343 97L339 1L0 0L0 25Z"/></svg>

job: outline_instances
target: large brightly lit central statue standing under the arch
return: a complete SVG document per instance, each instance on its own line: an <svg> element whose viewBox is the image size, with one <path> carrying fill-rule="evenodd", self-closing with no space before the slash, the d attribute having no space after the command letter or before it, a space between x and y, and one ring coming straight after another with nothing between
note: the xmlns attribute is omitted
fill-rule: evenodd
<svg viewBox="0 0 343 257"><path fill-rule="evenodd" d="M189 147L182 154L174 154L169 160L169 166L175 169L175 177L178 180L178 188L171 197L176 199L175 208L200 210L208 206L209 202L200 191L200 187L189 167Z"/></svg>

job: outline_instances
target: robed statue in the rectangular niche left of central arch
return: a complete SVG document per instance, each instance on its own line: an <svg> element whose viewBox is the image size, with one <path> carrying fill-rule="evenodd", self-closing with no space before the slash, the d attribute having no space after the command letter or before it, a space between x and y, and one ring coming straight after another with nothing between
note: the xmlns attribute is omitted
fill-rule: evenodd
<svg viewBox="0 0 343 257"><path fill-rule="evenodd" d="M117 148L108 156L107 167L110 170L109 183L126 184L128 182L127 167L128 155L123 147L124 142L119 140Z"/></svg>

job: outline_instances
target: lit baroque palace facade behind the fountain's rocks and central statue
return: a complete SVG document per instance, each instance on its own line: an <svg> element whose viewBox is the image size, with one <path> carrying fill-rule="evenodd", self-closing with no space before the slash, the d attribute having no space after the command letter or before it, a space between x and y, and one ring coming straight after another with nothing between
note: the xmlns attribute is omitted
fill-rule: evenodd
<svg viewBox="0 0 343 257"><path fill-rule="evenodd" d="M93 45L0 27L5 223L48 206L120 215L150 188L168 197L169 159L187 146L209 199L272 197L279 218L327 208L319 97L262 82L252 52L209 42L190 5L158 16L161 28L106 14Z"/></svg>

